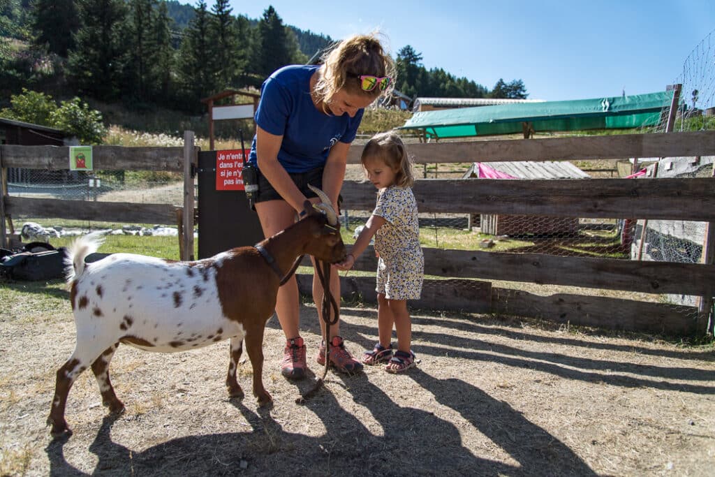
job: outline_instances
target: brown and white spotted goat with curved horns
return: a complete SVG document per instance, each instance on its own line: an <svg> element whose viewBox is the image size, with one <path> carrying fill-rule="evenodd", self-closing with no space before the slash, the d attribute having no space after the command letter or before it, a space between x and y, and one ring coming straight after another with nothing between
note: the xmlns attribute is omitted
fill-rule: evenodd
<svg viewBox="0 0 715 477"><path fill-rule="evenodd" d="M304 254L331 263L345 258L335 211L325 203L315 207L306 201L307 217L256 247L238 247L195 262L117 253L85 264L84 258L101 240L86 236L75 242L67 258L67 280L77 343L57 370L47 419L52 435L71 434L64 419L67 395L89 366L104 405L112 413L124 410L109 381L109 362L119 343L172 353L230 338L226 385L232 397L241 397L236 368L245 338L253 394L260 405L269 403L271 396L262 382L262 342L265 323L275 309L279 275Z"/></svg>

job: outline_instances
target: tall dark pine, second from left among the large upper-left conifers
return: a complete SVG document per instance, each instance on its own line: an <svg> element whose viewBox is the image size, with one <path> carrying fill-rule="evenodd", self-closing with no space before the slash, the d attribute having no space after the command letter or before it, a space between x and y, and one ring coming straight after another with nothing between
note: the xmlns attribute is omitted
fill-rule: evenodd
<svg viewBox="0 0 715 477"><path fill-rule="evenodd" d="M69 77L80 92L115 99L127 62L127 6L124 0L77 0L80 28L69 52Z"/></svg>

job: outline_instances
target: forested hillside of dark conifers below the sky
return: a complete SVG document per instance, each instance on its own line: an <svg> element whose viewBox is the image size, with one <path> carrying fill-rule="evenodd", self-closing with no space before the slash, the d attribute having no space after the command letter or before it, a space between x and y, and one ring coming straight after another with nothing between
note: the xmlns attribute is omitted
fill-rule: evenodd
<svg viewBox="0 0 715 477"><path fill-rule="evenodd" d="M134 110L204 111L199 99L260 87L285 64L305 63L335 39L285 25L272 7L260 19L228 0L0 0L0 107L22 89L79 96ZM521 80L492 90L399 49L396 87L410 97L527 97Z"/></svg>

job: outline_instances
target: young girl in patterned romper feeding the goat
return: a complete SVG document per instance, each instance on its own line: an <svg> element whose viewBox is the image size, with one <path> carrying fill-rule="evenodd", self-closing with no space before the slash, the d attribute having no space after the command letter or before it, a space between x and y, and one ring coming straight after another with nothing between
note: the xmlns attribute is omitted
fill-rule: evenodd
<svg viewBox="0 0 715 477"><path fill-rule="evenodd" d="M400 373L415 366L410 349L412 323L407 300L422 292L425 260L420 248L417 202L410 188L414 179L402 139L393 133L375 135L360 158L368 180L378 189L378 203L345 261L336 265L350 270L375 236L378 255L378 336L372 351L365 351L363 363L388 363L385 370ZM393 355L390 336L393 323L398 335L398 350Z"/></svg>

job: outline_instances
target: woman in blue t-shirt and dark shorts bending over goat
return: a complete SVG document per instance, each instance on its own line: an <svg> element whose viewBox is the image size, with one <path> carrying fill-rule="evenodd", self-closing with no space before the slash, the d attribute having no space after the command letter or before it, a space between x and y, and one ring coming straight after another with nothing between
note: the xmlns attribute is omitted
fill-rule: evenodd
<svg viewBox="0 0 715 477"><path fill-rule="evenodd" d="M255 209L266 237L300 218L297 214L306 199L318 202L308 185L323 190L338 210L347 150L365 107L393 89L393 75L392 59L370 34L340 41L325 54L320 66L282 67L265 80L255 114L250 162L259 171ZM330 277L330 290L340 296L337 274ZM324 365L322 287L315 275L312 292L323 335L317 363ZM307 364L295 276L280 287L275 310L286 338L281 373L287 378L303 378ZM330 336L330 364L345 373L361 370L363 365L345 349L340 323L331 326Z"/></svg>

